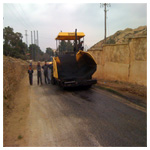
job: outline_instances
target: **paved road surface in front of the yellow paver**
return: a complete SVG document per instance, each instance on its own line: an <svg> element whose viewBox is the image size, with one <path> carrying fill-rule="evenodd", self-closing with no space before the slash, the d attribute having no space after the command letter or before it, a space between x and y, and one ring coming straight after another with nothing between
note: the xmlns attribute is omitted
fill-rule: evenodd
<svg viewBox="0 0 150 150"><path fill-rule="evenodd" d="M147 113L97 88L30 87L28 146L147 146Z"/></svg>

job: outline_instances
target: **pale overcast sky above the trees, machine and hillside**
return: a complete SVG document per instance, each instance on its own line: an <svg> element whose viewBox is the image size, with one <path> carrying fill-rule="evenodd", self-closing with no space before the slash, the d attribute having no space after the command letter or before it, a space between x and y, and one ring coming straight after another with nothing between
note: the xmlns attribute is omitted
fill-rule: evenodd
<svg viewBox="0 0 150 150"><path fill-rule="evenodd" d="M147 25L147 4L111 3L107 7L107 36L118 30ZM39 46L56 48L55 37L60 31L84 32L84 45L90 48L104 38L104 7L99 3L3 3L3 27L10 26L14 32L39 33Z"/></svg>

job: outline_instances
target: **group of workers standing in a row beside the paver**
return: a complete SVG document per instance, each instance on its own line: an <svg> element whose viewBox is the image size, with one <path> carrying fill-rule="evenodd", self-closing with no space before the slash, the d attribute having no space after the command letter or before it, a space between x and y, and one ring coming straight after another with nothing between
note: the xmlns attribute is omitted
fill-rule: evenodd
<svg viewBox="0 0 150 150"><path fill-rule="evenodd" d="M42 69L44 73L45 78L45 84L50 84L51 81L51 71L52 71L52 64L48 65L45 61L45 64L43 66L40 65L40 62L37 63L37 84L43 84L42 83ZM33 68L32 63L29 65L28 74L29 74L29 83L30 85L33 84Z"/></svg>

